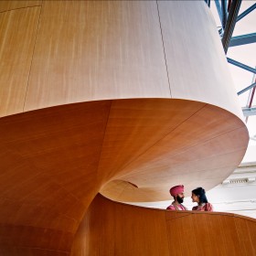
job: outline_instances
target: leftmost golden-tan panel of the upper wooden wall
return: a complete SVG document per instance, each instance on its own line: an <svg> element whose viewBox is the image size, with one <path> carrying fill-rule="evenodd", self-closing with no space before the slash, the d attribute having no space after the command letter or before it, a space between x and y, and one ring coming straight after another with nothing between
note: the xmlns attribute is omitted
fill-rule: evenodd
<svg viewBox="0 0 256 256"><path fill-rule="evenodd" d="M0 116L23 112L39 13L40 7L0 13Z"/></svg>

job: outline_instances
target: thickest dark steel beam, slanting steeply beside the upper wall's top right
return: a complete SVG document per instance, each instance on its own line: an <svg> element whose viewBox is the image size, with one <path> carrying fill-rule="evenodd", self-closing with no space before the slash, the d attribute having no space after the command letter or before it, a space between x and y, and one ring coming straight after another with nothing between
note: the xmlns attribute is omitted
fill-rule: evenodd
<svg viewBox="0 0 256 256"><path fill-rule="evenodd" d="M227 24L224 29L224 34L222 37L222 45L225 53L228 52L229 41L230 41L230 38L232 37L233 31L236 25L237 17L240 11L240 4L241 4L241 0L233 0L230 6Z"/></svg>

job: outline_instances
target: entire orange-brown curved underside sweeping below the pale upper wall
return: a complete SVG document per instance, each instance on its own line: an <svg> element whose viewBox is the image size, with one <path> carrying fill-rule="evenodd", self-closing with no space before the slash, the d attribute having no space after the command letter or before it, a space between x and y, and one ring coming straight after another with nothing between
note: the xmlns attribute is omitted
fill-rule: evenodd
<svg viewBox="0 0 256 256"><path fill-rule="evenodd" d="M99 191L155 201L169 198L177 181L187 189L214 186L229 176L247 139L232 113L173 99L89 101L4 117L0 248L69 253Z"/></svg>

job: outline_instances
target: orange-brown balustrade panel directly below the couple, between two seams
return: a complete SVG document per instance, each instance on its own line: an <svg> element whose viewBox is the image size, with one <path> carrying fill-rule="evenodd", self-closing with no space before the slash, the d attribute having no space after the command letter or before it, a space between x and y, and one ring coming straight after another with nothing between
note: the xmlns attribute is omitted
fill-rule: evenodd
<svg viewBox="0 0 256 256"><path fill-rule="evenodd" d="M222 213L200 214L191 212L187 216L166 221L171 255L241 255L240 240L233 215ZM166 215L172 215L167 212ZM254 224L255 225L255 224Z"/></svg>

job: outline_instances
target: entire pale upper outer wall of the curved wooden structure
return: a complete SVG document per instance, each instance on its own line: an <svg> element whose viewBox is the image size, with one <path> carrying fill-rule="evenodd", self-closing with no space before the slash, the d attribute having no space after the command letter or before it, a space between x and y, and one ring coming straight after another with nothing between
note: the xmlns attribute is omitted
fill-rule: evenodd
<svg viewBox="0 0 256 256"><path fill-rule="evenodd" d="M173 98L241 117L203 1L1 1L0 11L0 116L81 101Z"/></svg>

